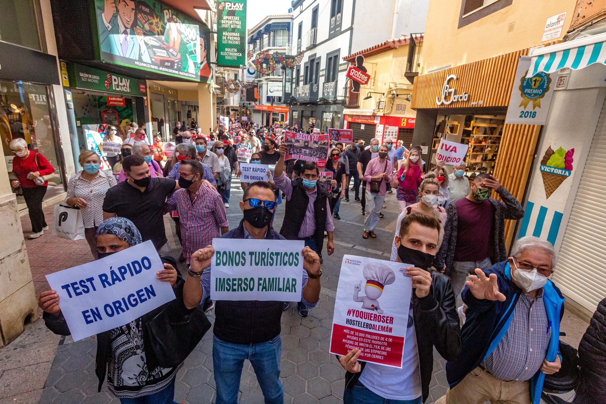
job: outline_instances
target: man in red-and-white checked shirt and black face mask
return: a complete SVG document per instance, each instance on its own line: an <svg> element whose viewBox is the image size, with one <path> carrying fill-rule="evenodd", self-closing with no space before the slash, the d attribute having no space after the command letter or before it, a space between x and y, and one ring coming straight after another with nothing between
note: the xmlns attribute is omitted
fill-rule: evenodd
<svg viewBox="0 0 606 404"><path fill-rule="evenodd" d="M183 256L190 263L194 251L229 231L227 212L216 190L202 186L204 167L196 160L182 160L179 187L164 204L164 213L176 210L181 227ZM219 230L221 233L219 234Z"/></svg>

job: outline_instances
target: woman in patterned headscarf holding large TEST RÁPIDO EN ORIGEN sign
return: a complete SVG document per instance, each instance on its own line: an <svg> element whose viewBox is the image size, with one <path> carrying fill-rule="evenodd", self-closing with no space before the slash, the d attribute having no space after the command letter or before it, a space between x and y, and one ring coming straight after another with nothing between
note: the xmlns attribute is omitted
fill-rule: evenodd
<svg viewBox="0 0 606 404"><path fill-rule="evenodd" d="M97 229L99 259L141 243L141 234L132 221L123 217L104 220ZM163 259L164 261L164 259ZM170 403L175 396L175 376L182 364L175 368L157 366L148 368L150 353L145 352L142 324L155 317L162 309L187 315L191 312L183 304L183 280L171 264L156 272L156 278L170 282L176 299L165 303L132 322L97 334L95 373L99 378L99 391L107 372L107 386L121 403ZM44 310L44 322L55 334L70 335L65 318L59 308L56 291L40 294L38 305ZM170 306L167 306L170 305Z"/></svg>

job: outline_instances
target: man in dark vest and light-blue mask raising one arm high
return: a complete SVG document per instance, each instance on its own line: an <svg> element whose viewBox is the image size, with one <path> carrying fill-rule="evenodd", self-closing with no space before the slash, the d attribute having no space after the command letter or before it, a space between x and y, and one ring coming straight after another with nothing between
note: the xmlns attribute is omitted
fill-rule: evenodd
<svg viewBox="0 0 606 404"><path fill-rule="evenodd" d="M324 245L324 231L328 233L326 250L328 255L335 252L333 244L333 217L328 206L328 192L316 187L318 181L318 167L307 162L301 169L299 178L290 180L284 173L284 156L288 146L282 143L279 149L280 158L276 163L274 181L276 187L286 195L286 210L280 234L287 240L304 240L305 246L317 252L322 263L322 246ZM284 303L284 310L290 302ZM302 317L309 315L309 310L298 303L299 314Z"/></svg>

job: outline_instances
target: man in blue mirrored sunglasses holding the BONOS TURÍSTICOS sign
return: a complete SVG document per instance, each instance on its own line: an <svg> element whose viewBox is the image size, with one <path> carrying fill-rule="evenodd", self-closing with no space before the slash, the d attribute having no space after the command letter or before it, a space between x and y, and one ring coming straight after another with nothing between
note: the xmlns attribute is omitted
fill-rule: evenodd
<svg viewBox="0 0 606 404"><path fill-rule="evenodd" d="M222 238L247 240L284 240L270 226L276 197L270 184L258 181L244 190L240 209L244 220ZM183 288L187 308L195 308L210 293L210 261L215 254L213 246L199 249L191 255L191 267ZM301 252L303 278L301 303L308 309L320 297L320 260L309 247ZM265 403L284 403L280 382L281 301L215 301L213 328L213 369L217 386L216 404L238 402L240 376L244 360L250 360Z"/></svg>

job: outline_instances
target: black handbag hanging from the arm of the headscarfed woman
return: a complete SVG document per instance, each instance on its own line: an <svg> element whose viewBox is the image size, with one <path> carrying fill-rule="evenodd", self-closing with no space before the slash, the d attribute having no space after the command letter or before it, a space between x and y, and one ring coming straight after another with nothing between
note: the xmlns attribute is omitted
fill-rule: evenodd
<svg viewBox="0 0 606 404"><path fill-rule="evenodd" d="M162 368L174 368L196 348L208 329L210 322L201 306L182 317L163 308L143 323L145 351L151 350Z"/></svg>

